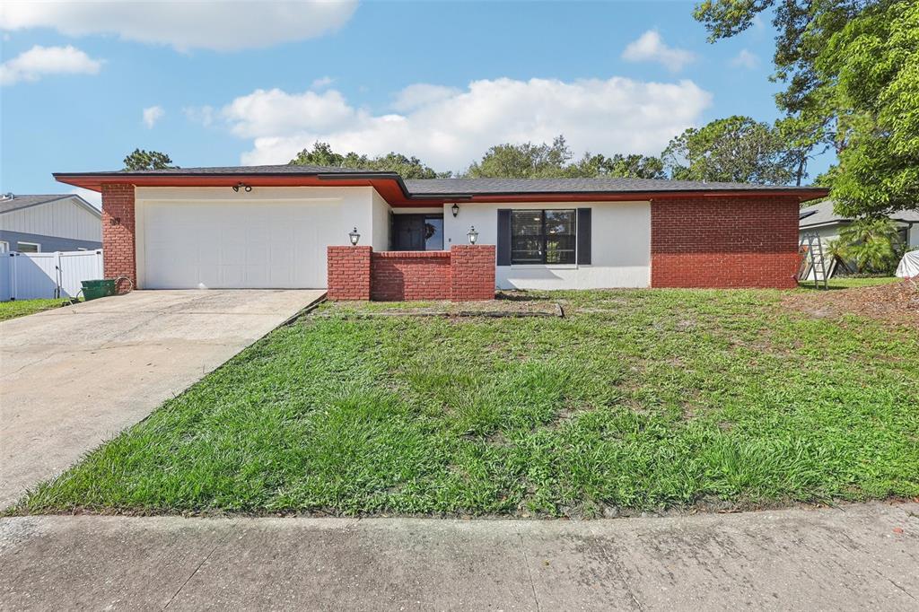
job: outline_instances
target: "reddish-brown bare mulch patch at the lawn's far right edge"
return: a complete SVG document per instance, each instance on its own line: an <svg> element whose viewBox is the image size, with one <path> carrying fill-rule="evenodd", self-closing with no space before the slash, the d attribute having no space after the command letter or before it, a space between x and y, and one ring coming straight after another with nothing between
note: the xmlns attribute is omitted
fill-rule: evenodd
<svg viewBox="0 0 919 612"><path fill-rule="evenodd" d="M796 291L782 304L821 319L857 314L919 326L919 283L911 280L856 289Z"/></svg>

